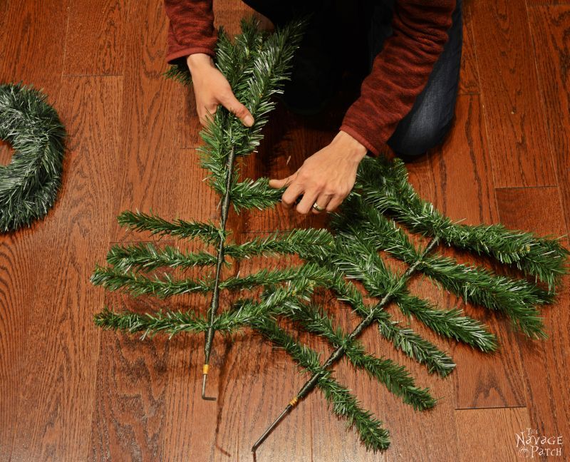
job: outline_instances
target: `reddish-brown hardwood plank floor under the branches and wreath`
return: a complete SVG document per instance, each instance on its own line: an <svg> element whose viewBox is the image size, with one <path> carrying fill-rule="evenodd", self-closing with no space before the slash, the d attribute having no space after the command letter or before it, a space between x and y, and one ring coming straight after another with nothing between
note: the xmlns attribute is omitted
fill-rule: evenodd
<svg viewBox="0 0 570 462"><path fill-rule="evenodd" d="M250 10L239 0L215 0L214 11L216 23L235 33ZM465 0L457 118L440 148L409 165L420 195L468 223L569 232L569 31L567 1ZM0 235L0 461L251 461L254 440L306 379L283 351L250 331L233 341L219 336L209 376L217 401L202 401L202 336L140 341L93 325L104 303L167 306L90 284L112 242L153 239L120 229L119 212L152 208L196 220L219 213L197 165L192 92L162 77L166 32L160 1L0 1L0 82L43 88L69 134L53 210L29 229ZM294 173L337 127L306 125L279 108L242 171L253 178ZM0 144L0 160L9 158ZM323 217L281 208L229 218L238 240L323 225ZM527 428L563 438L562 456L541 460L568 459L569 282L544 309L544 342L465 306L499 335L501 348L485 356L432 337L457 363L447 379L366 331L368 350L409 366L418 385L442 401L413 411L341 361L336 376L389 428L388 451L368 453L317 391L257 460L515 461L516 435ZM413 287L442 307L457 304L430 282L418 279ZM207 304L193 296L176 303ZM345 329L354 326L346 310L328 309ZM306 334L301 339L331 351Z"/></svg>

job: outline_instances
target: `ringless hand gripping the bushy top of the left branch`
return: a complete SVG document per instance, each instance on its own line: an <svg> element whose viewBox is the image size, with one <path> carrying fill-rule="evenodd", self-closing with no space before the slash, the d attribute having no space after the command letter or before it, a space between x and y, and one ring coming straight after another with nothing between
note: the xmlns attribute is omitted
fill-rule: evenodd
<svg viewBox="0 0 570 462"><path fill-rule="evenodd" d="M224 74L214 66L214 61L209 55L191 54L186 58L186 62L192 74L196 111L202 125L207 125L209 116L214 115L219 104L234 113L247 127L254 124L252 114L237 101Z"/></svg>

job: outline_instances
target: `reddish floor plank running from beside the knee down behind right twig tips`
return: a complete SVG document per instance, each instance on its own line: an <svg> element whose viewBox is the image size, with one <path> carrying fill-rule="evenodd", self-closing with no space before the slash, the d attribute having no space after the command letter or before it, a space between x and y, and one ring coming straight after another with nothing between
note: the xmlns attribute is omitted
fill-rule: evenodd
<svg viewBox="0 0 570 462"><path fill-rule="evenodd" d="M430 167L434 193L423 197L438 210L468 225L499 221L479 97L458 98L455 126L441 150L430 154ZM476 255L445 253L459 261L486 263ZM496 354L484 354L466 345L455 345L453 357L457 369L452 379L455 405L460 409L521 406L524 386L516 337L509 320L483 307L465 304L452 294L445 297L446 308L457 305L466 314L485 322L489 331L497 334L502 347Z"/></svg>

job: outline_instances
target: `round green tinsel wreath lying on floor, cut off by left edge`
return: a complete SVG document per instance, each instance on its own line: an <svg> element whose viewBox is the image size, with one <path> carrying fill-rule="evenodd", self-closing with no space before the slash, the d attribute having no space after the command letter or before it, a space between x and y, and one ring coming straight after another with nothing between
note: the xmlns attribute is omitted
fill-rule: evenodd
<svg viewBox="0 0 570 462"><path fill-rule="evenodd" d="M46 215L61 184L65 128L46 96L29 86L0 86L0 139L14 148L0 165L0 232Z"/></svg>

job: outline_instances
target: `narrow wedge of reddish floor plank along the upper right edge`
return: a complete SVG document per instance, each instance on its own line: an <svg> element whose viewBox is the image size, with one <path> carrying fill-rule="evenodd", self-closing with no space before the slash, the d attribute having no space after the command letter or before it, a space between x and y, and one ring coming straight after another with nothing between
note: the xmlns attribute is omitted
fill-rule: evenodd
<svg viewBox="0 0 570 462"><path fill-rule="evenodd" d="M570 6L541 6L529 9L549 139L554 145L556 174L570 231Z"/></svg>

